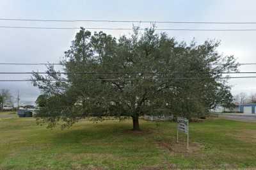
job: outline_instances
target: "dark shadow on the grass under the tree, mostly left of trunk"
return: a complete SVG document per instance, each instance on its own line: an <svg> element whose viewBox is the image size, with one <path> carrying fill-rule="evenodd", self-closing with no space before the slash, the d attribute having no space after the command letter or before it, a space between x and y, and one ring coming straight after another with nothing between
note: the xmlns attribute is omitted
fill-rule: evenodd
<svg viewBox="0 0 256 170"><path fill-rule="evenodd" d="M148 127L133 132L129 123L86 123L61 130L52 137L52 143L114 143L141 140L152 134ZM136 136L136 137L134 137Z"/></svg>

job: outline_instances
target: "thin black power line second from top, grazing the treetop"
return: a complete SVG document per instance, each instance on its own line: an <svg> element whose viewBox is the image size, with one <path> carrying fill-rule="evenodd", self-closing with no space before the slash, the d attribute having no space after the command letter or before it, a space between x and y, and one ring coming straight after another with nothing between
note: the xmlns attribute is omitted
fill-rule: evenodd
<svg viewBox="0 0 256 170"><path fill-rule="evenodd" d="M0 26L0 28L13 29L81 29L80 27L24 27L24 26ZM132 28L112 28L112 27L84 27L84 29L100 30L133 30ZM140 28L139 30L144 30ZM156 31L256 31L256 29L155 29Z"/></svg>

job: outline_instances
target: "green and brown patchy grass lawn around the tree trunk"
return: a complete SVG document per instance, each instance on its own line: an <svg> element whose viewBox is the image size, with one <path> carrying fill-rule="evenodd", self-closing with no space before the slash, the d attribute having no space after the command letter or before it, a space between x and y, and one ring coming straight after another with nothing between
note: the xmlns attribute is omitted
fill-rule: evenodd
<svg viewBox="0 0 256 170"><path fill-rule="evenodd" d="M221 119L190 123L176 144L176 123L80 121L46 129L34 118L0 113L0 169L171 169L256 167L256 124ZM5 115L5 116L3 116ZM2 117L2 118L1 118Z"/></svg>

